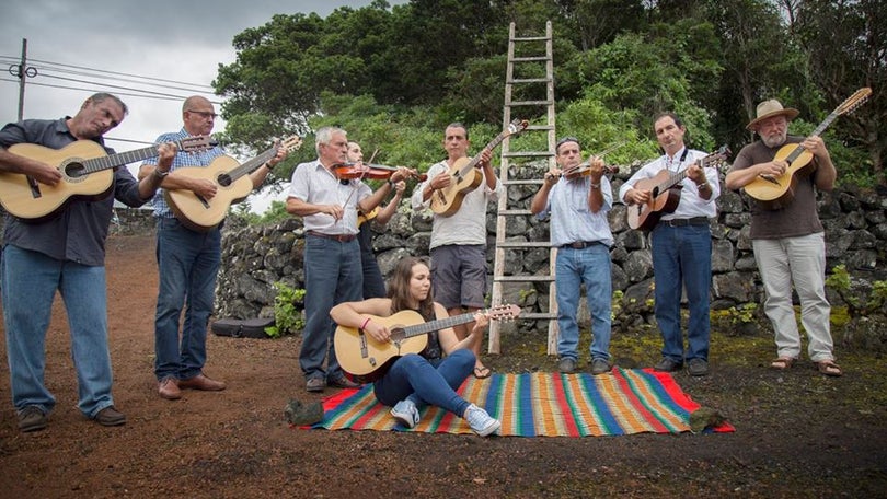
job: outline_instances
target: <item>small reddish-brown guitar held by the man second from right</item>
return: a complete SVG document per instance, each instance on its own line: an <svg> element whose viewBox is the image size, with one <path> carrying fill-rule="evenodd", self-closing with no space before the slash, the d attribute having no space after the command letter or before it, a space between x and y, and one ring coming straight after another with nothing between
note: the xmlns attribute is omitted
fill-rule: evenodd
<svg viewBox="0 0 887 499"><path fill-rule="evenodd" d="M696 163L701 167L713 166L727 159L729 149L722 146L717 152L713 152ZM680 172L670 172L663 169L650 178L637 181L635 189L649 190L649 200L629 207L629 227L642 231L650 231L665 213L673 213L681 201L680 183L687 178L687 169Z"/></svg>

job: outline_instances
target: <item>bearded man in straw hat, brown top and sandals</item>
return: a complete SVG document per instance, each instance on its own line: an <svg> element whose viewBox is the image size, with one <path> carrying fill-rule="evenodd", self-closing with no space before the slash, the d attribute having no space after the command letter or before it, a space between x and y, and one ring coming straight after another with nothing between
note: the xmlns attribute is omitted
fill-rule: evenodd
<svg viewBox="0 0 887 499"><path fill-rule="evenodd" d="M725 182L727 188L737 190L758 177L783 175L790 165L775 158L787 143L799 143L813 154L810 173L797 175L791 202L774 207L750 199L751 241L767 293L764 311L775 333L776 359L770 367L788 369L800 356L800 335L792 303L794 283L800 298L800 323L809 337L807 355L819 372L840 376L829 330L831 305L826 298L825 230L816 212L816 190L831 190L838 173L820 137L787 134L788 121L797 114L797 109L783 107L775 100L759 104L757 117L747 128L761 140L739 151Z"/></svg>

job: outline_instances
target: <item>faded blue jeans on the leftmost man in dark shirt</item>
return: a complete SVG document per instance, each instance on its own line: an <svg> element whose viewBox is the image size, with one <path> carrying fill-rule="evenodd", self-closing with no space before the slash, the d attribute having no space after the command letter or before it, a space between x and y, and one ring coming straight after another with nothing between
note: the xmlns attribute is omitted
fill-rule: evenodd
<svg viewBox="0 0 887 499"><path fill-rule="evenodd" d="M13 245L5 246L2 259L3 327L15 408L33 405L49 414L56 405L44 384L46 329L56 290L68 314L80 411L92 418L114 405L105 268L57 260Z"/></svg>

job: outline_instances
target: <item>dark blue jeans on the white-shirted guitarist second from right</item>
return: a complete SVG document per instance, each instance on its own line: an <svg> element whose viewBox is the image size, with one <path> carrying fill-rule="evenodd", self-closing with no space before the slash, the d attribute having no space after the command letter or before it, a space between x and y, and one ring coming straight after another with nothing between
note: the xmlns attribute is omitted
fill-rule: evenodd
<svg viewBox="0 0 887 499"><path fill-rule="evenodd" d="M712 233L709 225L653 230L654 312L663 334L663 357L682 363L709 360L709 287L712 282ZM690 322L687 355L681 333L681 287L687 291Z"/></svg>

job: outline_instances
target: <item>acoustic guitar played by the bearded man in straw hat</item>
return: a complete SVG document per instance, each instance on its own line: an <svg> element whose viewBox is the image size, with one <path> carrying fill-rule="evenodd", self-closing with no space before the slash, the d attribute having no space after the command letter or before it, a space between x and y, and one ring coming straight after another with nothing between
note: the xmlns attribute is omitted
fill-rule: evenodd
<svg viewBox="0 0 887 499"><path fill-rule="evenodd" d="M810 136L820 136L828 128L831 121L838 116L852 113L856 107L861 106L868 96L872 95L872 89L865 86L853 95L849 96L844 102L832 111L821 124L810 134ZM780 176L760 175L744 187L746 194L757 199L761 207L767 210L777 210L788 206L795 198L795 187L797 187L797 175L809 174L813 170L810 160L813 154L804 149L799 143L785 144L776 151L774 160L784 160L788 167L785 173ZM797 174L797 175L796 175Z"/></svg>

